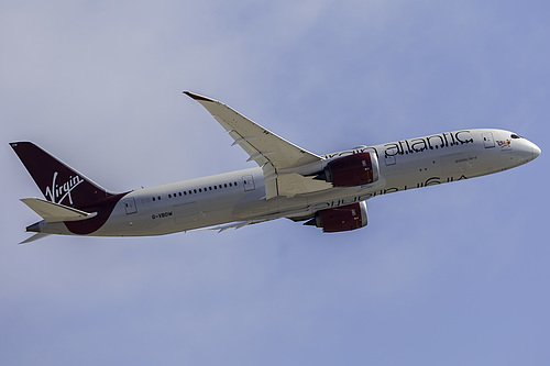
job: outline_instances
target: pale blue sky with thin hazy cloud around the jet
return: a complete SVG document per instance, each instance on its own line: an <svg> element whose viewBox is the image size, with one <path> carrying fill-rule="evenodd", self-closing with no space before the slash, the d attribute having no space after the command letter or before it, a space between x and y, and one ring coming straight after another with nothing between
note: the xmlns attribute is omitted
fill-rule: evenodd
<svg viewBox="0 0 550 366"><path fill-rule="evenodd" d="M0 364L548 365L547 1L0 2ZM190 90L317 154L471 127L542 155L289 220L18 245L33 141L112 191L253 167Z"/></svg>

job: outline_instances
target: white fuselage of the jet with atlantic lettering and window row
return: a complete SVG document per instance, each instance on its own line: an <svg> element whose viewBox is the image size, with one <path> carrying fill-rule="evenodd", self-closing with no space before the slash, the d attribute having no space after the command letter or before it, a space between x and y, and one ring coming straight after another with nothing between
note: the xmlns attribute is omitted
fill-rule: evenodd
<svg viewBox="0 0 550 366"><path fill-rule="evenodd" d="M91 235L158 235L232 222L307 218L375 196L502 171L540 154L531 142L513 136L503 130L463 130L323 155L328 163L345 155L375 153L380 179L294 197L266 200L261 168L140 189L124 196ZM41 232L70 234L64 223L42 223Z"/></svg>

